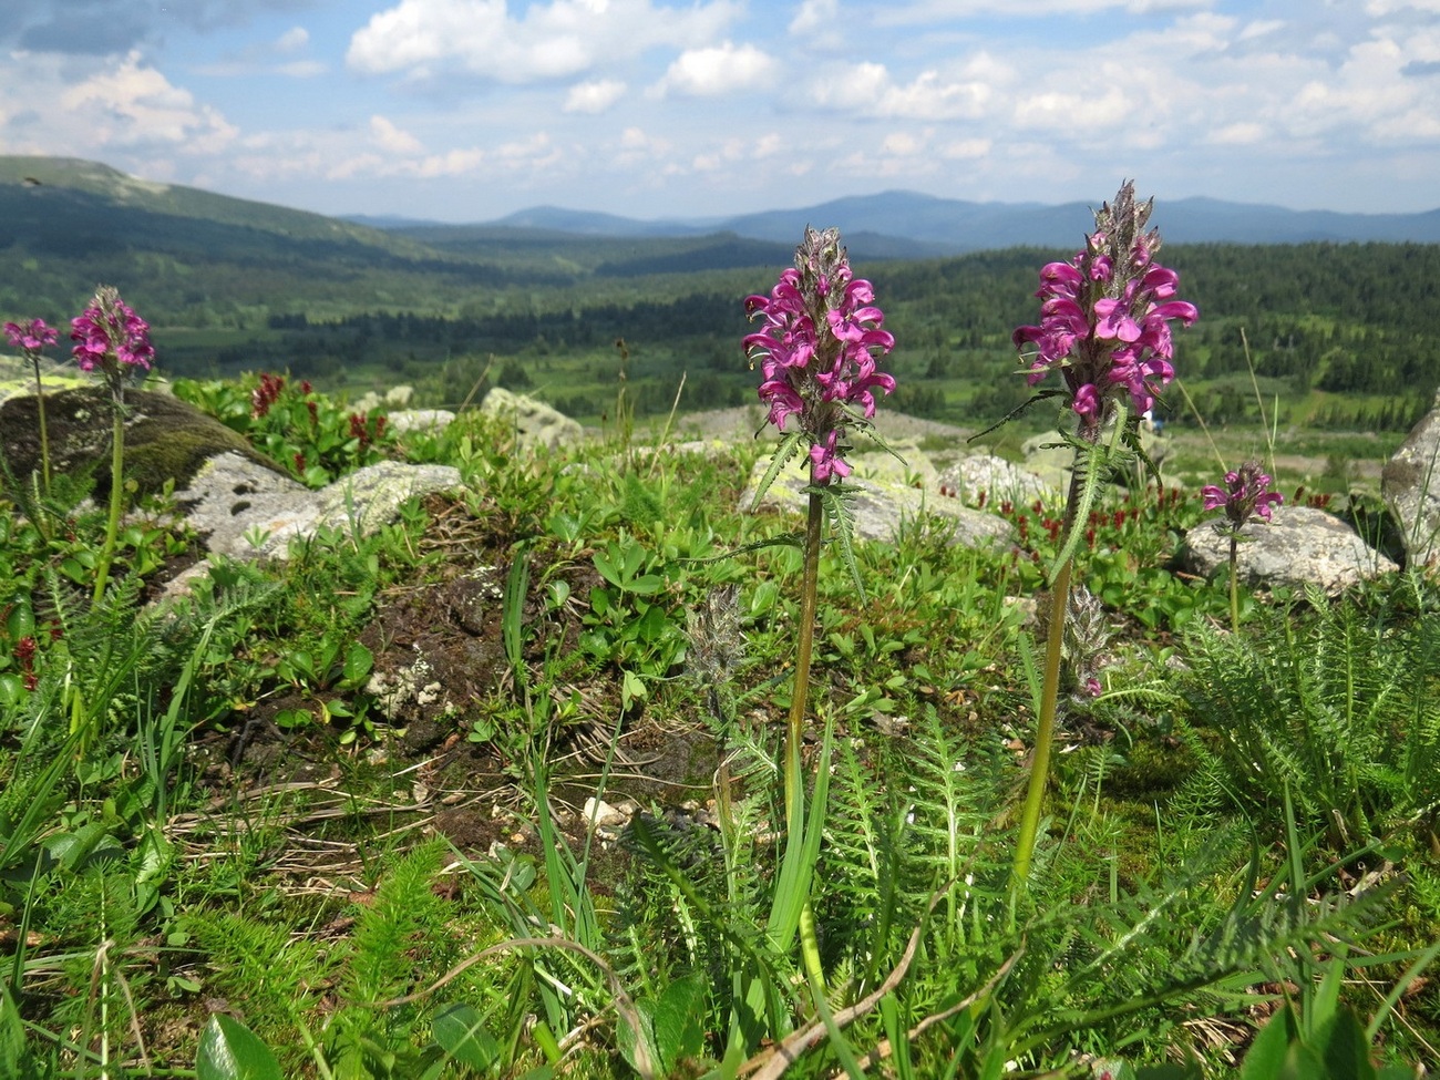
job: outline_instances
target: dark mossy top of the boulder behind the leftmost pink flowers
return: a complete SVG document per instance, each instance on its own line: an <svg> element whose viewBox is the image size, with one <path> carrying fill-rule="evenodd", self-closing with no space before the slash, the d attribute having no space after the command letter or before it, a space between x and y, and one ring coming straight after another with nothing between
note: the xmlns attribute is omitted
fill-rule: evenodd
<svg viewBox="0 0 1440 1080"><path fill-rule="evenodd" d="M284 472L246 442L239 432L194 406L153 390L125 395L125 477L140 494L160 491L173 480L183 488L207 458L226 451ZM95 477L95 498L109 492L109 400L104 389L86 386L45 396L50 439L50 472L71 478ZM33 395L16 396L0 406L0 451L16 480L40 467L39 412Z"/></svg>

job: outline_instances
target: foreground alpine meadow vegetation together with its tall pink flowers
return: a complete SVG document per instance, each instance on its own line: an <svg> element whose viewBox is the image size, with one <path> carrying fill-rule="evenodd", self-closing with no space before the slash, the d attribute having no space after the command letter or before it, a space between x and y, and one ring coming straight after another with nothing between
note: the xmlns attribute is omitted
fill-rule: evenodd
<svg viewBox="0 0 1440 1080"><path fill-rule="evenodd" d="M105 505L43 429L0 472L0 1079L1433 1070L1440 588L1240 585L1280 471L1146 449L1204 333L1156 215L1122 186L1004 300L1040 318L996 393L1056 406L1068 482L927 491L1012 528L976 546L857 527L906 382L835 229L730 300L757 439L648 431L625 383L606 432L536 448L289 372L177 380L310 487L458 469L269 560L127 484L164 353L99 289L72 338ZM6 331L43 418L56 334ZM1215 511L1228 575L1181 573Z"/></svg>

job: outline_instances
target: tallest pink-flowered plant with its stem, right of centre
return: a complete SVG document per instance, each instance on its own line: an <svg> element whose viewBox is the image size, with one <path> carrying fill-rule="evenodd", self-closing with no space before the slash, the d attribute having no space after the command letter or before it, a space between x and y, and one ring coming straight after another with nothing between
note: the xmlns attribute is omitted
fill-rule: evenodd
<svg viewBox="0 0 1440 1080"><path fill-rule="evenodd" d="M1136 202L1126 181L1113 203L1094 215L1094 232L1068 262L1051 262L1040 272L1040 323L1015 330L1014 341L1031 386L1058 374L1061 386L1047 387L1034 400L1058 396L1060 435L1074 448L1070 492L1060 526L1060 550L1050 566L1051 592L1045 667L1035 730L1030 789L1021 815L1012 883L1030 874L1040 808L1050 772L1060 667L1070 611L1070 579L1084 523L1104 477L1128 459L1139 458L1153 474L1139 441L1139 418L1153 409L1171 366L1171 324L1191 325L1198 311L1178 300L1179 275L1155 261L1158 229L1148 229L1155 200ZM1077 526L1079 523L1079 526Z"/></svg>

